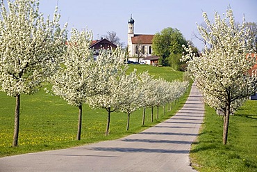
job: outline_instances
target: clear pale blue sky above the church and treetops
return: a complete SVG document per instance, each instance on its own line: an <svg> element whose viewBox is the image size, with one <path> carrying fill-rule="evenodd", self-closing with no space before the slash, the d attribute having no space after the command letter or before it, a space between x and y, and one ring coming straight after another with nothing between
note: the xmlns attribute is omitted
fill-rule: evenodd
<svg viewBox="0 0 257 172"><path fill-rule="evenodd" d="M257 0L40 0L40 12L52 16L57 4L60 23L68 22L69 31L72 27L88 28L94 39L115 31L125 44L131 13L135 33L155 34L167 27L176 28L200 50L203 45L192 33L197 33L196 22L204 22L203 12L213 19L215 12L222 15L231 6L237 22L242 22L243 15L247 22L257 22Z"/></svg>

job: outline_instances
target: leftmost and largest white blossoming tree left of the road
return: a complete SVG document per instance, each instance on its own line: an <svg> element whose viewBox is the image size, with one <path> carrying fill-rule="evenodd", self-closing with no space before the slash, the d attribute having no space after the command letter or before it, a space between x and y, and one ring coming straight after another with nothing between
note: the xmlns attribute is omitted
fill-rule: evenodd
<svg viewBox="0 0 257 172"><path fill-rule="evenodd" d="M58 8L53 20L39 13L39 0L0 2L0 86L16 97L13 146L18 145L21 94L33 94L57 69L63 54L66 26L59 27Z"/></svg>

